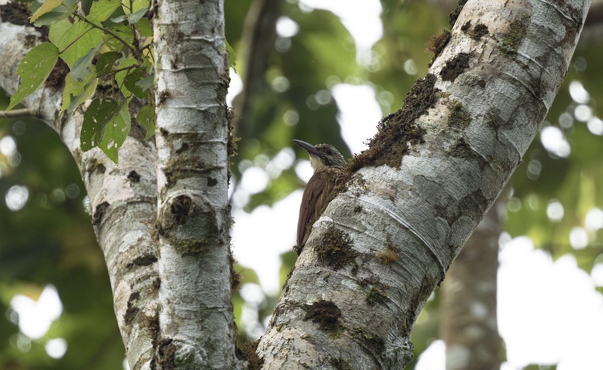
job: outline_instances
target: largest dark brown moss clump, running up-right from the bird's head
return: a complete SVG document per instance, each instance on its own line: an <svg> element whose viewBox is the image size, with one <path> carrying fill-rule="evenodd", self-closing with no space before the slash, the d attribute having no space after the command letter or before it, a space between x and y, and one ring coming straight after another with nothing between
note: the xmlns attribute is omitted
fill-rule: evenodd
<svg viewBox="0 0 603 370"><path fill-rule="evenodd" d="M440 92L434 88L436 80L435 75L428 74L415 82L402 108L379 122L376 135L368 143L368 150L350 159L346 167L350 173L366 165L400 167L402 156L409 152L410 145L423 142L425 129L415 120L434 106Z"/></svg>

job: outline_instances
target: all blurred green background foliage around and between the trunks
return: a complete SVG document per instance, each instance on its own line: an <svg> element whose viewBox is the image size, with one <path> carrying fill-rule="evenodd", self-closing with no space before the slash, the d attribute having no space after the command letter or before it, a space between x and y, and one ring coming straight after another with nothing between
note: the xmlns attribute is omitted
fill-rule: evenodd
<svg viewBox="0 0 603 370"><path fill-rule="evenodd" d="M356 64L353 40L334 14L324 10L301 11L293 0L282 3L283 15L297 23L299 31L288 40L288 48L267 51L265 85L256 97L247 126L236 130L241 141L239 154L232 159L235 182L241 178L242 161L265 162L265 158L273 158L283 147L291 147L293 138L329 142L341 148L346 158L350 157L336 122L336 102L331 98L318 104L315 99L317 92L328 92L333 81L373 86L377 98L384 97L379 100L384 114L401 106L414 81L427 71L432 56L425 53L425 42L447 27L450 10L418 1L381 2L384 36L373 47L374 62L366 67ZM237 69L242 75L246 69L245 57L239 54L239 49L250 5L251 0L225 2L226 36L237 53ZM581 81L589 91L590 105L597 114L596 102L603 98L598 83L599 71L603 70L601 44L579 45L575 60L580 63L584 60L587 67L580 71L572 68L561 86L547 118L553 126L558 126L561 113L573 113L576 104L568 93L572 80ZM414 62L415 74L408 73L408 65L405 69L409 60ZM288 81L288 88L277 90L274 83L282 81L282 77ZM4 109L8 98L0 95L0 108ZM287 118L287 112L297 114L295 123L291 123L290 116ZM603 262L602 232L591 235L589 246L581 250L572 249L568 235L574 226L584 226L584 216L590 208L603 207L602 137L593 135L579 122L562 130L572 149L567 158L549 155L537 138L510 180L513 198L521 206L517 208L516 202L511 207L513 211L508 212L507 230L512 236L528 235L554 257L572 253L579 266L590 272L593 261ZM57 135L43 123L0 120L0 136L7 135L14 137L19 158L0 158L0 194L13 185L25 185L29 200L16 212L9 211L4 202L0 204L0 311L7 313L0 315L0 369L119 369L124 347L113 314L103 255L96 246L90 216L83 206L85 190L80 173ZM294 150L299 158L306 159L299 148ZM540 162L541 171L531 179L527 171L532 160ZM66 195L68 187L70 196ZM75 196L74 187L79 191ZM245 209L271 205L301 187L303 183L289 168L271 179L265 191L251 196ZM551 199L558 199L564 206L560 222L552 223L546 215ZM281 284L295 262L295 255L289 252L282 259ZM243 283L257 283L253 270L236 268L242 271ZM28 352L11 344L18 333L17 326L9 320L11 298L20 293L37 299L46 284L57 287L64 305L62 316L45 337L67 340L68 350L59 360L46 355L45 339L31 343ZM260 322L270 315L276 299L267 296L258 307ZM238 338L245 340L241 322L244 301L239 295L233 301ZM436 290L415 325L412 337L415 359L438 336L438 304L439 290ZM414 368L414 363L408 368Z"/></svg>

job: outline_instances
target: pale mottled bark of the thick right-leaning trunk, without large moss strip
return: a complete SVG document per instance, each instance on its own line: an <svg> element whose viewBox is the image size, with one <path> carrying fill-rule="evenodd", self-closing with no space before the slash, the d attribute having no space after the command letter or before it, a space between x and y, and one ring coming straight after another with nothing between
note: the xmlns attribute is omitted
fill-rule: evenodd
<svg viewBox="0 0 603 370"><path fill-rule="evenodd" d="M537 133L589 4L464 5L419 84L437 97L417 119L424 142L399 168L361 168L315 223L259 343L264 369L409 362L418 312ZM353 253L319 261L332 246Z"/></svg>

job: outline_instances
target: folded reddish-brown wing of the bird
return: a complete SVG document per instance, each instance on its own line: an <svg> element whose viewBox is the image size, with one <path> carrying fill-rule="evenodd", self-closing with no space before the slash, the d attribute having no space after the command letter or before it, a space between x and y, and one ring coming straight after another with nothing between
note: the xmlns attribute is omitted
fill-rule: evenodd
<svg viewBox="0 0 603 370"><path fill-rule="evenodd" d="M300 205L300 218L297 222L297 245L301 246L306 241L306 234L312 228L312 225L320 217L320 211L323 210L324 203L333 187L335 180L339 176L339 170L335 168L326 168L315 173L303 191Z"/></svg>

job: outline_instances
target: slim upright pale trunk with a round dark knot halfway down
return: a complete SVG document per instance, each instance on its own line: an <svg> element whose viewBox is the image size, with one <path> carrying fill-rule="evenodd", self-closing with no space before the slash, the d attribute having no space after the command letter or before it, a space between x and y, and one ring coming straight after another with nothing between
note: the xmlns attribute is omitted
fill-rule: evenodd
<svg viewBox="0 0 603 370"><path fill-rule="evenodd" d="M154 33L159 362L235 369L223 2L159 1Z"/></svg>

